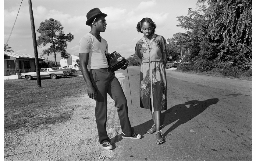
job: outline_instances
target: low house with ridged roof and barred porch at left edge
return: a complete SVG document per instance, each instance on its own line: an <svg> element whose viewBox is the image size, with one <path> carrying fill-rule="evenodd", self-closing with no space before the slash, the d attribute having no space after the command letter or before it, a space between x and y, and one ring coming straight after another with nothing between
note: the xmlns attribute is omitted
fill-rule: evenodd
<svg viewBox="0 0 256 161"><path fill-rule="evenodd" d="M44 57L38 57L39 66ZM35 56L5 51L5 79L18 79L20 73L36 71Z"/></svg>

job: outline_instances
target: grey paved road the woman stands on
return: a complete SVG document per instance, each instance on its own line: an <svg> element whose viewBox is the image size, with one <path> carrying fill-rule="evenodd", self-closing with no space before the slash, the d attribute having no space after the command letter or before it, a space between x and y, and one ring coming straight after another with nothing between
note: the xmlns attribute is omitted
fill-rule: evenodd
<svg viewBox="0 0 256 161"><path fill-rule="evenodd" d="M166 142L146 134L153 125L139 106L140 67L128 67L124 91L129 117L142 139L119 139L113 160L251 160L251 81L167 69L168 109L162 111ZM127 76L127 70L118 70Z"/></svg>

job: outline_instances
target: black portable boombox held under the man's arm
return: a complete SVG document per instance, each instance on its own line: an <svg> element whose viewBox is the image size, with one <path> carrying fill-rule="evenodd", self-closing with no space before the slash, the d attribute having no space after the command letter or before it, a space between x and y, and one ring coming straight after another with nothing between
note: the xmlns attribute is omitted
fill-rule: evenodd
<svg viewBox="0 0 256 161"><path fill-rule="evenodd" d="M114 51L106 57L108 60L108 66L111 68L113 72L123 67L126 63L126 60L123 57L121 57L121 55L116 51Z"/></svg>

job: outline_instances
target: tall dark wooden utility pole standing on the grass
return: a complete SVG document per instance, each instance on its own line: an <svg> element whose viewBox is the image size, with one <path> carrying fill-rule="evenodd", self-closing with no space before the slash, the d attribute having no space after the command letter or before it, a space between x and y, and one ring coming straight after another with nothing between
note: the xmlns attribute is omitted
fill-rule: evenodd
<svg viewBox="0 0 256 161"><path fill-rule="evenodd" d="M38 63L38 53L37 53L37 39L36 39L34 15L33 15L33 10L32 10L31 0L28 0L28 5L29 5L30 23L31 23L32 39L33 39L34 55L35 55L35 64L36 64L36 72L37 72L37 86L41 87L41 77L40 77L40 71L39 71L39 66L38 66L39 63Z"/></svg>

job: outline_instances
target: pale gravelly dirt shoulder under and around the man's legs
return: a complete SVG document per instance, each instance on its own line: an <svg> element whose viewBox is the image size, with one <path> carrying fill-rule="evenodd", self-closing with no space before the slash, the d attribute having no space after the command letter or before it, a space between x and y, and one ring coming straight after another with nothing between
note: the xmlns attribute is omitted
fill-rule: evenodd
<svg viewBox="0 0 256 161"><path fill-rule="evenodd" d="M124 76L116 74L122 87ZM5 140L12 145L5 149L5 161L70 161L70 160L110 160L120 153L121 145L113 150L104 150L99 144L95 121L95 100L87 94L79 98L62 101L63 109L74 107L72 117L65 122L41 125L36 129L23 128L5 134ZM54 102L52 102L54 104ZM52 107L54 108L54 107ZM107 131L111 142L120 140L121 128L114 101L108 96ZM111 159L112 160L112 159Z"/></svg>

